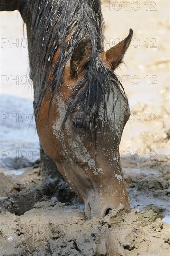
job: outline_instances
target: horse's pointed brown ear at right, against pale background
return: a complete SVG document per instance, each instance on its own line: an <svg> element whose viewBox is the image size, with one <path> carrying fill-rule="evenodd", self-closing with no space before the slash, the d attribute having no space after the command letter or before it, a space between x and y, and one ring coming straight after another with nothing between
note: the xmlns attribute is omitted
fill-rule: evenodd
<svg viewBox="0 0 170 256"><path fill-rule="evenodd" d="M106 61L111 65L113 69L118 67L122 62L124 54L126 53L127 48L131 42L133 36L133 30L129 30L129 35L123 41L119 42L117 45L112 47L106 52Z"/></svg>

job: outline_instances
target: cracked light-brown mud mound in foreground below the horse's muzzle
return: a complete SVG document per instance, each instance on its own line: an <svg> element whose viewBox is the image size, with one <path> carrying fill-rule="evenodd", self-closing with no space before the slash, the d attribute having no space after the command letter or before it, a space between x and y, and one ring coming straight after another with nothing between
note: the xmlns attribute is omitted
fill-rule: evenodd
<svg viewBox="0 0 170 256"><path fill-rule="evenodd" d="M56 198L22 216L1 216L0 236L3 256L107 255L108 238L114 238L122 256L169 256L170 249L169 225L152 210L126 214L121 205L105 218L86 221L82 210Z"/></svg>

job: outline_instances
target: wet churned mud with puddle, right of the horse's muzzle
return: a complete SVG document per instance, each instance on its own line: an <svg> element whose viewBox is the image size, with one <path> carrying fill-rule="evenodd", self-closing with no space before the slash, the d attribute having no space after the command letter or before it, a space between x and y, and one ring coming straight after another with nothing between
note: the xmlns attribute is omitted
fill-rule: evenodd
<svg viewBox="0 0 170 256"><path fill-rule="evenodd" d="M131 208L148 209L153 204L169 214L170 157L159 155L155 160L127 157L121 162Z"/></svg>

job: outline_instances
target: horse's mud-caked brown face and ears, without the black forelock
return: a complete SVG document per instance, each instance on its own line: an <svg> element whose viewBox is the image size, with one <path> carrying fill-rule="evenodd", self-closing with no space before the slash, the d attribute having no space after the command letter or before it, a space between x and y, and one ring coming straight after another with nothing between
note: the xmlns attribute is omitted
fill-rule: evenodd
<svg viewBox="0 0 170 256"><path fill-rule="evenodd" d="M99 53L100 60L108 70L114 70L131 42L133 31L126 39L106 52ZM101 104L98 116L97 145L89 132L88 118L85 122L76 118L77 109L65 122L66 100L72 94L78 80L83 77L83 68L92 55L91 41L81 40L72 59L65 66L63 86L55 95L48 114L50 92L44 97L37 119L37 131L46 153L56 162L59 172L85 203L85 215L104 217L111 209L123 204L129 209L129 198L124 185L119 156L119 144L124 126L129 119L128 100L123 91L113 88L107 99L108 120L103 125L104 110ZM113 111L114 106L114 111ZM81 114L81 111L79 112Z"/></svg>

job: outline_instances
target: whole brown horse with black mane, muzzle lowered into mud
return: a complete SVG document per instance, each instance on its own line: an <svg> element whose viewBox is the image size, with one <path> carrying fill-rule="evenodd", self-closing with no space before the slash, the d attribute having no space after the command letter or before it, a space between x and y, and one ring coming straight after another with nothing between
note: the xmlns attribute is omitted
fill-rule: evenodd
<svg viewBox="0 0 170 256"><path fill-rule="evenodd" d="M85 216L129 211L119 155L130 116L115 69L133 31L104 51L100 0L2 1L27 26L39 140L85 204Z"/></svg>

